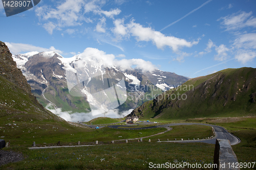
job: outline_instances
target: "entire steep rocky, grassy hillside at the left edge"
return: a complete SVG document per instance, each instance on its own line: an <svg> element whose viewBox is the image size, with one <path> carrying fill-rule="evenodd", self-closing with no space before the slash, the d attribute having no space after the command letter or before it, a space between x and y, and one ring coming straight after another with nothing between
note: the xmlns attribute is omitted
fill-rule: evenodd
<svg viewBox="0 0 256 170"><path fill-rule="evenodd" d="M0 117L2 121L9 123L10 116L12 119L33 117L38 121L46 119L63 121L38 103L25 76L16 67L12 54L2 41L0 41L0 87Z"/></svg>

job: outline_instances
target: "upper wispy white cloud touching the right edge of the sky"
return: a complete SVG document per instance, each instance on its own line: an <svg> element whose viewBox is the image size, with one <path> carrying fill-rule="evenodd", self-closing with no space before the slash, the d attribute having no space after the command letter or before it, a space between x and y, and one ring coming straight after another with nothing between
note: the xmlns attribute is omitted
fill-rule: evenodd
<svg viewBox="0 0 256 170"><path fill-rule="evenodd" d="M245 27L256 27L256 18L252 16L252 12L240 11L221 17L218 21L222 20L221 24L226 28L226 31L240 30Z"/></svg>

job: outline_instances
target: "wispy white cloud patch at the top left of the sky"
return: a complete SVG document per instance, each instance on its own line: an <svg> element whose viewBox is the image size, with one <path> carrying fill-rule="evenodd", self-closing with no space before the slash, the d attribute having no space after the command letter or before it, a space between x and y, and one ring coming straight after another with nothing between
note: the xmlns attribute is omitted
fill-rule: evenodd
<svg viewBox="0 0 256 170"><path fill-rule="evenodd" d="M93 20L87 17L88 12L94 14L104 14L106 17L113 18L119 15L120 9L111 9L110 11L101 10L105 1L93 0L86 2L83 0L66 0L65 2L56 3L56 7L41 6L36 7L35 13L39 21L45 22L42 24L49 34L52 34L55 29L61 30L65 27L81 26L83 22L92 23ZM102 32L104 29L98 26Z"/></svg>

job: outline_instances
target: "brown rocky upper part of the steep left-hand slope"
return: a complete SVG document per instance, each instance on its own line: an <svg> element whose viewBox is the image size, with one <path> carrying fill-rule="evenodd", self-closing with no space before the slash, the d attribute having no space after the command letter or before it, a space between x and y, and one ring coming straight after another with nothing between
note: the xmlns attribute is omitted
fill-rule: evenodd
<svg viewBox="0 0 256 170"><path fill-rule="evenodd" d="M0 41L0 76L16 84L19 88L31 93L31 87L27 83L22 71L17 68L6 44Z"/></svg>

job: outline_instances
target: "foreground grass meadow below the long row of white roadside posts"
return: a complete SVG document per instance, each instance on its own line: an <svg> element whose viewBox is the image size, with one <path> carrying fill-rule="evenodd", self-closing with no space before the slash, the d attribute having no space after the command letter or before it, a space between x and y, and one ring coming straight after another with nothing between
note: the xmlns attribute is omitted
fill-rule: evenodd
<svg viewBox="0 0 256 170"><path fill-rule="evenodd" d="M213 163L214 145L132 142L80 148L27 149L23 154L27 157L26 160L4 165L2 168L148 169L149 162Z"/></svg>

